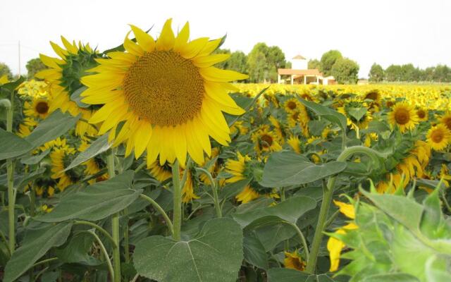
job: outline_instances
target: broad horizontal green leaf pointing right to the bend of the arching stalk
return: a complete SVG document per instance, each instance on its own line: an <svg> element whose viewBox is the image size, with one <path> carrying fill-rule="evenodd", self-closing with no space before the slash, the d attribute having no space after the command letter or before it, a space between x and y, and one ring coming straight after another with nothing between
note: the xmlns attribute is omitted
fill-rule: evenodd
<svg viewBox="0 0 451 282"><path fill-rule="evenodd" d="M346 163L342 161L316 165L295 152L274 152L266 162L260 185L271 188L301 185L340 173L345 168Z"/></svg>

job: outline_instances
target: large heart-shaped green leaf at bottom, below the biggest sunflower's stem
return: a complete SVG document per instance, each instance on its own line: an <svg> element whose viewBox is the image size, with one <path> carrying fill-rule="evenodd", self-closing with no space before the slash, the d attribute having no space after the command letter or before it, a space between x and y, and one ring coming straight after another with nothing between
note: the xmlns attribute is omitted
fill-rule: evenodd
<svg viewBox="0 0 451 282"><path fill-rule="evenodd" d="M159 282L231 282L243 259L242 231L232 219L211 219L192 240L151 236L137 243L137 273Z"/></svg>

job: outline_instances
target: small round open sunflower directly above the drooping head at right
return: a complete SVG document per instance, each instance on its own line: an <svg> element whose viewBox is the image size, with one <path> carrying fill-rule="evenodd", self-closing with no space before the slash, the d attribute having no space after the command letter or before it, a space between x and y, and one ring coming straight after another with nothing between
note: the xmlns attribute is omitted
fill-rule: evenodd
<svg viewBox="0 0 451 282"><path fill-rule="evenodd" d="M419 118L416 116L416 111L412 105L407 102L398 102L393 106L393 111L388 114L388 121L392 125L398 125L400 131L404 133L406 130L414 129Z"/></svg>

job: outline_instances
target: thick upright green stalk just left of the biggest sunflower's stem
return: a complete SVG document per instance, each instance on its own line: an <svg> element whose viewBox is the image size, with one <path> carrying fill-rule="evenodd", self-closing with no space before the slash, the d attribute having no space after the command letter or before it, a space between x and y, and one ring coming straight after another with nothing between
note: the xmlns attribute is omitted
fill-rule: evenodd
<svg viewBox="0 0 451 282"><path fill-rule="evenodd" d="M114 151L110 149L108 157L106 157L106 165L110 178L116 175L114 168ZM113 265L114 265L114 281L121 281L121 245L119 243L119 213L113 214L111 217L111 233L116 247L113 247Z"/></svg>

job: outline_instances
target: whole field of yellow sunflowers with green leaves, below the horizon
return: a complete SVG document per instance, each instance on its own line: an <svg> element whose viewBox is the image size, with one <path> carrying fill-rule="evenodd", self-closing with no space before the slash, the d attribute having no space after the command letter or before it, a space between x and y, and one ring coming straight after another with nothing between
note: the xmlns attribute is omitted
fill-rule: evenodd
<svg viewBox="0 0 451 282"><path fill-rule="evenodd" d="M0 280L451 281L451 87L239 83L223 41L0 79Z"/></svg>

